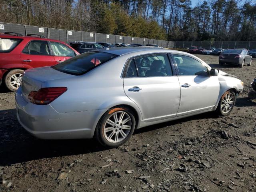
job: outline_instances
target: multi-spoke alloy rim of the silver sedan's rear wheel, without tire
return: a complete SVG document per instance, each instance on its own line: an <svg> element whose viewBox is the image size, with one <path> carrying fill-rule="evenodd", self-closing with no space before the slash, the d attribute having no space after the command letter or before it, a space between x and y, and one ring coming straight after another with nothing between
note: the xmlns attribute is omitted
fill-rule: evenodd
<svg viewBox="0 0 256 192"><path fill-rule="evenodd" d="M104 137L112 143L124 140L132 128L132 120L124 111L114 112L104 124Z"/></svg>

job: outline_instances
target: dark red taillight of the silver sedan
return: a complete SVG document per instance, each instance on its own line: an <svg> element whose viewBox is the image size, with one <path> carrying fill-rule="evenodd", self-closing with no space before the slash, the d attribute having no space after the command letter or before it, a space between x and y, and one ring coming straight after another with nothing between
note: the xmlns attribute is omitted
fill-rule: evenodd
<svg viewBox="0 0 256 192"><path fill-rule="evenodd" d="M47 105L62 95L67 89L66 87L41 88L38 92L31 91L28 95L28 99L30 99L30 102L37 105Z"/></svg>

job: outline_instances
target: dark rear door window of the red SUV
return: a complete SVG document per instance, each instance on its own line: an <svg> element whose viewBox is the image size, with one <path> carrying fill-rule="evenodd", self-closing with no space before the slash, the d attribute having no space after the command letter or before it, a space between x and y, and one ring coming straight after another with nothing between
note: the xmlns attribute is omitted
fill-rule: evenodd
<svg viewBox="0 0 256 192"><path fill-rule="evenodd" d="M38 40L30 41L22 52L31 55L50 55L48 42Z"/></svg>

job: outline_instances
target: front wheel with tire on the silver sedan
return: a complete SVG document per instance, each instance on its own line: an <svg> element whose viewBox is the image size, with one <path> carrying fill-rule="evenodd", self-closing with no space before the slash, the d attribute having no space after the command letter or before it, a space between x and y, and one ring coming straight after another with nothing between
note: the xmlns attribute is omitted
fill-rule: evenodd
<svg viewBox="0 0 256 192"><path fill-rule="evenodd" d="M220 102L217 108L218 114L220 116L228 116L232 112L235 106L235 103L236 103L236 94L232 90L226 91L220 98Z"/></svg>

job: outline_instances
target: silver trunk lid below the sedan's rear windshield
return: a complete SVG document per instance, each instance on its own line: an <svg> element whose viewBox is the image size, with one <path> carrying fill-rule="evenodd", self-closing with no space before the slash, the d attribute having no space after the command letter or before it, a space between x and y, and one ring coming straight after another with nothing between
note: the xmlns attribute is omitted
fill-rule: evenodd
<svg viewBox="0 0 256 192"><path fill-rule="evenodd" d="M40 88L42 88L42 82L68 77L74 76L57 71L51 67L41 67L26 70L22 76L22 97L24 100L26 100L26 102L30 102L28 99L28 94L31 91L38 91Z"/></svg>

